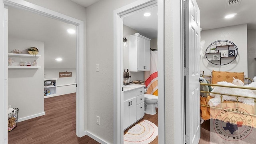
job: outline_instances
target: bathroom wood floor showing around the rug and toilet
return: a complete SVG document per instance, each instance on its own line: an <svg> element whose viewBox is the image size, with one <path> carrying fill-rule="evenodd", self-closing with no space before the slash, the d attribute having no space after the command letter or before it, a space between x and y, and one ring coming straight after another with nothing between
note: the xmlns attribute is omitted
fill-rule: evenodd
<svg viewBox="0 0 256 144"><path fill-rule="evenodd" d="M143 121L143 120L149 120L150 122L153 122L156 126L158 126L158 108L156 108L156 114L155 115L150 115L150 114L145 114L144 118L142 118L139 122ZM137 122L136 124L138 124L139 122ZM130 128L132 128L135 124L133 124L132 126L130 126L129 128L127 128L124 131L124 134L126 132L128 132L128 130ZM158 136L149 144L158 144Z"/></svg>

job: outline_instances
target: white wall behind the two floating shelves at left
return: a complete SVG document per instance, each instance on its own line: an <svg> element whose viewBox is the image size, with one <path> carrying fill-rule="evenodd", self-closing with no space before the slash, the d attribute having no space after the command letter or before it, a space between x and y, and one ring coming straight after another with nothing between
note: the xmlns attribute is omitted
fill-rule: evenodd
<svg viewBox="0 0 256 144"><path fill-rule="evenodd" d="M37 60L41 68L8 70L8 105L19 108L19 121L44 115L44 42L9 36L8 44L8 52L19 49L23 54L28 54L28 48L33 46L38 48L38 55L41 55L39 58L14 59L18 63Z"/></svg>

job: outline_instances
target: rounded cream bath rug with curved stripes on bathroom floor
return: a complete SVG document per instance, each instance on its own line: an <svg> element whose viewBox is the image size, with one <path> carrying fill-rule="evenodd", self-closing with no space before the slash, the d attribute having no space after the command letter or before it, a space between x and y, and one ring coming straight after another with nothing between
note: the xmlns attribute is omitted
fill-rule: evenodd
<svg viewBox="0 0 256 144"><path fill-rule="evenodd" d="M124 144L149 144L158 136L158 127L148 120L133 126L124 135Z"/></svg>

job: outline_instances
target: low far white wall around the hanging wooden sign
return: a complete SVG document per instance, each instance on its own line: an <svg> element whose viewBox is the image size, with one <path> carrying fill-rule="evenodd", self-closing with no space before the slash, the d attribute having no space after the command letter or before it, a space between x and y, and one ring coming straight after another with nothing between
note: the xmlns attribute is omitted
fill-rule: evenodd
<svg viewBox="0 0 256 144"><path fill-rule="evenodd" d="M59 78L59 72L72 72L72 77ZM44 69L45 79L57 79L56 96L76 92L76 69Z"/></svg>

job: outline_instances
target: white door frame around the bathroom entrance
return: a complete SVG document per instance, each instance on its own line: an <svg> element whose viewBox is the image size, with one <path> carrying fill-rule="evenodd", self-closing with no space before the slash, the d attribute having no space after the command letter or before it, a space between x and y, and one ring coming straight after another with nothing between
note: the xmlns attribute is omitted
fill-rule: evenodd
<svg viewBox="0 0 256 144"><path fill-rule="evenodd" d="M164 0L138 0L114 10L114 144L123 140L123 17L158 6L158 143L165 142L164 114Z"/></svg>

